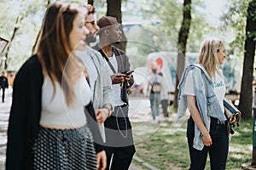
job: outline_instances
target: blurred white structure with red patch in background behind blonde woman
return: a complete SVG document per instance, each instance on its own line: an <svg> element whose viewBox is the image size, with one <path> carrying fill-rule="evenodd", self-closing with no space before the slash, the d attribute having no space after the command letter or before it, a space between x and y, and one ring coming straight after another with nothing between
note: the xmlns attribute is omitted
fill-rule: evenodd
<svg viewBox="0 0 256 170"><path fill-rule="evenodd" d="M197 53L186 53L185 65L197 62ZM236 56L230 55L224 60L224 65L220 65L225 78L226 96L232 101L239 99L241 89L241 59ZM135 82L143 86L143 93L146 93L148 77L152 68L156 68L157 72L162 72L164 81L166 81L166 89L170 94L170 100L173 100L176 83L176 67L177 67L177 52L173 51L160 51L148 54L145 67L135 69L133 73Z"/></svg>

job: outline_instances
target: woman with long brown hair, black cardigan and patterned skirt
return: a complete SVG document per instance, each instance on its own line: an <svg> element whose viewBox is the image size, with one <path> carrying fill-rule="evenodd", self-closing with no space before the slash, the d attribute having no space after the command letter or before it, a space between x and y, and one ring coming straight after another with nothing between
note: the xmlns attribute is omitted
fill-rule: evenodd
<svg viewBox="0 0 256 170"><path fill-rule="evenodd" d="M72 52L89 33L84 11L74 3L47 8L38 51L15 77L6 170L105 169L85 116L88 75Z"/></svg>

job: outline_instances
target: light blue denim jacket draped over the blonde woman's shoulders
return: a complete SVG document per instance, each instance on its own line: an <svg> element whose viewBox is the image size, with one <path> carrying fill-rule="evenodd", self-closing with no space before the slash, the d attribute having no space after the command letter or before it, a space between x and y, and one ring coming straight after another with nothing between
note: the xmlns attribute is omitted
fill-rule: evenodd
<svg viewBox="0 0 256 170"><path fill-rule="evenodd" d="M201 114L201 118L207 127L208 132L210 132L210 116L218 118L220 123L224 123L226 117L224 116L224 113L218 103L218 99L213 91L213 82L208 76L204 66L201 64L189 65L186 67L185 71L183 71L183 76L181 77L177 87L179 89L179 93L177 95L177 119L185 114L188 107L187 96L183 95L183 88L189 71L193 71L193 84L191 85L194 87L198 111ZM201 139L201 131L196 125L193 147L196 150L202 150L204 147Z"/></svg>

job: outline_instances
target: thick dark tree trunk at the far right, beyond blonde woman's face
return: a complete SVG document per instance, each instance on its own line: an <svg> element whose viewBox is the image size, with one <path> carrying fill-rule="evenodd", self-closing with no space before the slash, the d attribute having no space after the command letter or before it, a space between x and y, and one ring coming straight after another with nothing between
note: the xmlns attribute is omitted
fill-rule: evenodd
<svg viewBox="0 0 256 170"><path fill-rule="evenodd" d="M252 118L253 104L253 61L256 45L256 1L249 3L247 8L247 26L245 53L241 78L241 95L238 109L241 111L243 118Z"/></svg>

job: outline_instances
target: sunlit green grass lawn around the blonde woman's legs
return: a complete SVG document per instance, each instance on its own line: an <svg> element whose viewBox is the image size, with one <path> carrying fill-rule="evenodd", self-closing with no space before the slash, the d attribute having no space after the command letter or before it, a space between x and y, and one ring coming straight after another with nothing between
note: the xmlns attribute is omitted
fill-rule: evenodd
<svg viewBox="0 0 256 170"><path fill-rule="evenodd" d="M241 169L242 163L252 162L252 124L253 120L241 120L240 127L235 127L236 133L230 138L226 169ZM133 122L132 125L137 149L136 156L159 169L189 168L186 121L179 125L168 121L159 124ZM210 169L209 159L206 169Z"/></svg>

